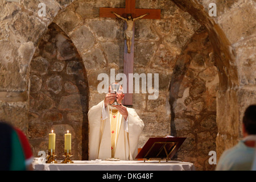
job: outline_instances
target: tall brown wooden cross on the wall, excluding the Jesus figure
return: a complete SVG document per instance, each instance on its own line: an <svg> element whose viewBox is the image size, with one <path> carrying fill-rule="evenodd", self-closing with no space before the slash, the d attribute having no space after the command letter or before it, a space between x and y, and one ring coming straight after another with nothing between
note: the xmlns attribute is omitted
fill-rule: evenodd
<svg viewBox="0 0 256 182"><path fill-rule="evenodd" d="M133 18L147 14L143 19L160 19L161 10L160 9L136 9L135 8L136 0L126 0L125 8L111 8L111 7L100 7L100 17L101 18L117 18L112 12L121 15L127 16L131 14ZM126 28L126 27L125 27ZM134 63L134 26L133 26L133 38L131 40L130 53L127 53L127 46L125 40L125 49L123 56L123 73L127 77L127 93L123 98L123 105L133 105L133 93L129 93L129 73L133 73L133 63ZM133 80L130 80L133 81Z"/></svg>

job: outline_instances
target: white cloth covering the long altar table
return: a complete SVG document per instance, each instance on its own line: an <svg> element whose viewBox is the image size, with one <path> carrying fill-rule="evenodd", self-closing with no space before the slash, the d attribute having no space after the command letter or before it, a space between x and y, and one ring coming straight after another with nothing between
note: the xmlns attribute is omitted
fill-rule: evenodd
<svg viewBox="0 0 256 182"><path fill-rule="evenodd" d="M32 163L35 171L195 171L195 166L188 162L146 161L143 160L73 160L72 164Z"/></svg>

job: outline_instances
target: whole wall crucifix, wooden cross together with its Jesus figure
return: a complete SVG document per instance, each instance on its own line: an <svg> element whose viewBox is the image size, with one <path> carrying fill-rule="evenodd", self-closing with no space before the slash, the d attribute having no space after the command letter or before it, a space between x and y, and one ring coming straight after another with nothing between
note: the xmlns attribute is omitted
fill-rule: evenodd
<svg viewBox="0 0 256 182"><path fill-rule="evenodd" d="M112 8L112 7L100 7L100 17L101 18L121 18L123 20L129 21L130 18L133 21L132 26L130 22L126 20L125 24L125 48L123 56L123 73L127 77L127 93L123 98L123 105L133 105L133 93L129 93L129 73L133 73L133 63L134 63L134 20L137 19L160 19L161 10L160 9L137 9L135 8L136 0L126 0L125 8ZM133 19L133 18L134 19ZM130 26L130 27L129 27ZM130 31L132 27L132 31ZM129 32L127 32L129 31ZM132 34L132 35L129 35Z"/></svg>

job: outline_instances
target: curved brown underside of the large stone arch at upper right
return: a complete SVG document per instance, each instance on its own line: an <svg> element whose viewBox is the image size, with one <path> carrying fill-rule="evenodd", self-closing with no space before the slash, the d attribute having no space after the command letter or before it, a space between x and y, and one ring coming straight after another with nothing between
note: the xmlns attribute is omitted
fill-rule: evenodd
<svg viewBox="0 0 256 182"><path fill-rule="evenodd" d="M238 85L237 66L230 42L221 27L208 15L207 9L197 1L176 1L178 7L191 14L209 32L214 49L216 67L220 76L220 90L235 88Z"/></svg>

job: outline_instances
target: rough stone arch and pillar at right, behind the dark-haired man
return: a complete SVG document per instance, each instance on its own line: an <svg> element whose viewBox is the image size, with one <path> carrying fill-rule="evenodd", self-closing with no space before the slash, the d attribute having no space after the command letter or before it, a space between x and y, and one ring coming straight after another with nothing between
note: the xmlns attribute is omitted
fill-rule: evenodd
<svg viewBox="0 0 256 182"><path fill-rule="evenodd" d="M255 55L250 52L255 50L255 44L251 42L255 40L255 18L249 18L251 14L255 14L254 2L216 1L217 17L208 15L209 1L173 2L207 28L213 46L214 62L220 78L216 119L216 151L219 158L224 150L234 146L242 138L243 111L256 102L253 78L255 66L251 61L252 57L255 59ZM250 20L245 22L244 19ZM251 68L245 68L246 63ZM243 72L245 70L253 76L246 75Z"/></svg>

